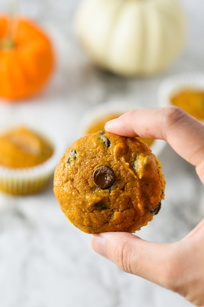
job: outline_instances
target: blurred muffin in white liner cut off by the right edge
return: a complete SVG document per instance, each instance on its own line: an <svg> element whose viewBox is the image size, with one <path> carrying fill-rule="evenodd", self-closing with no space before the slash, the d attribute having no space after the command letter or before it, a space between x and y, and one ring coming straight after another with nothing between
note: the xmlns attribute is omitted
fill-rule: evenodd
<svg viewBox="0 0 204 307"><path fill-rule="evenodd" d="M204 122L204 75L183 73L165 79L158 90L160 107L177 106Z"/></svg>

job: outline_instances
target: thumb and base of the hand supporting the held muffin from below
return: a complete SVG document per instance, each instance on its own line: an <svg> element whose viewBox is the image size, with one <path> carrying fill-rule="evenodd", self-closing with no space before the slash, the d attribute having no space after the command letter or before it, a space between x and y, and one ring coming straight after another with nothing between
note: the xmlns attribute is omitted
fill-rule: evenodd
<svg viewBox="0 0 204 307"><path fill-rule="evenodd" d="M138 275L204 306L203 237L161 244L125 232L93 235L94 251L123 271Z"/></svg>

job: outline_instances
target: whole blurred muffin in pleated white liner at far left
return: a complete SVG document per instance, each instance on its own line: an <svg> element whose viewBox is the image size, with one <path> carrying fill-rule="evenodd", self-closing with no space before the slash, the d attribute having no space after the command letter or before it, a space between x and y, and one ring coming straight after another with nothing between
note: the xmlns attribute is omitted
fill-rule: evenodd
<svg viewBox="0 0 204 307"><path fill-rule="evenodd" d="M56 144L25 126L0 135L0 190L14 195L45 187L56 167Z"/></svg>

